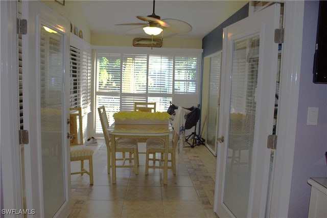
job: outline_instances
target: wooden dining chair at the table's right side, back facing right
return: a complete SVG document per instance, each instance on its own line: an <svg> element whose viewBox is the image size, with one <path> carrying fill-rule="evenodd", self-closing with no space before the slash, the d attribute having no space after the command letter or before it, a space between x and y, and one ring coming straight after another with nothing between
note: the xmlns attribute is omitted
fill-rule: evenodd
<svg viewBox="0 0 327 218"><path fill-rule="evenodd" d="M179 135L173 131L173 137L172 140L169 142L169 151L168 154L170 155L170 159L168 159L168 162L171 163L170 166L168 166L168 169L172 169L174 175L176 174L176 146L178 142ZM160 158L156 158L156 153L160 153ZM149 174L149 168L152 169L163 169L164 165L161 164L162 161L164 161L163 158L169 158L165 157L165 141L162 139L148 139L146 141L146 163L145 163L145 175ZM152 155L152 158L150 157ZM153 165L149 165L149 162L152 161ZM158 161L159 165L155 165L155 162Z"/></svg>

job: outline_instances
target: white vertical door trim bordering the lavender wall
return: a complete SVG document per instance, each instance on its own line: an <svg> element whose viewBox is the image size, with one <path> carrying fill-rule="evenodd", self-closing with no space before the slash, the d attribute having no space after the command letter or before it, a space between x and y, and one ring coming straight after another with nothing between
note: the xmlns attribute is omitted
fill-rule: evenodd
<svg viewBox="0 0 327 218"><path fill-rule="evenodd" d="M285 2L275 170L269 217L288 217L297 123L304 1Z"/></svg>

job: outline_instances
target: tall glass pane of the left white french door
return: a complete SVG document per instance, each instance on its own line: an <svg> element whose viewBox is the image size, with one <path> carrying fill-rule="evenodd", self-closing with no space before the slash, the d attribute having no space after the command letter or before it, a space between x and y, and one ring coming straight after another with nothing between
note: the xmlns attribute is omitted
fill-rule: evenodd
<svg viewBox="0 0 327 218"><path fill-rule="evenodd" d="M64 147L64 35L40 25L40 105L44 217L66 201Z"/></svg>

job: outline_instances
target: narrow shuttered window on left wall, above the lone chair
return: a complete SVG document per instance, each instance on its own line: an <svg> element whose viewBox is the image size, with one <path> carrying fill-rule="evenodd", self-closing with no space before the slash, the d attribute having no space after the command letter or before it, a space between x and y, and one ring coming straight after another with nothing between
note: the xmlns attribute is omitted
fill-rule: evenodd
<svg viewBox="0 0 327 218"><path fill-rule="evenodd" d="M91 49L78 37L71 37L70 47L70 107L82 107L90 111L91 103Z"/></svg>

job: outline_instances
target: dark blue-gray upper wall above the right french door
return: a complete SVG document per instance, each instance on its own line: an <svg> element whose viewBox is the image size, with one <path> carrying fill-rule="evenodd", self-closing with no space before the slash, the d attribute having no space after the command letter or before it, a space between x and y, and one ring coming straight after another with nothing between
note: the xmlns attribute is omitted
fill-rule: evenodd
<svg viewBox="0 0 327 218"><path fill-rule="evenodd" d="M208 33L202 39L203 56L208 56L223 49L223 28L247 17L249 15L249 3L243 6L235 14L231 15L221 25Z"/></svg>

